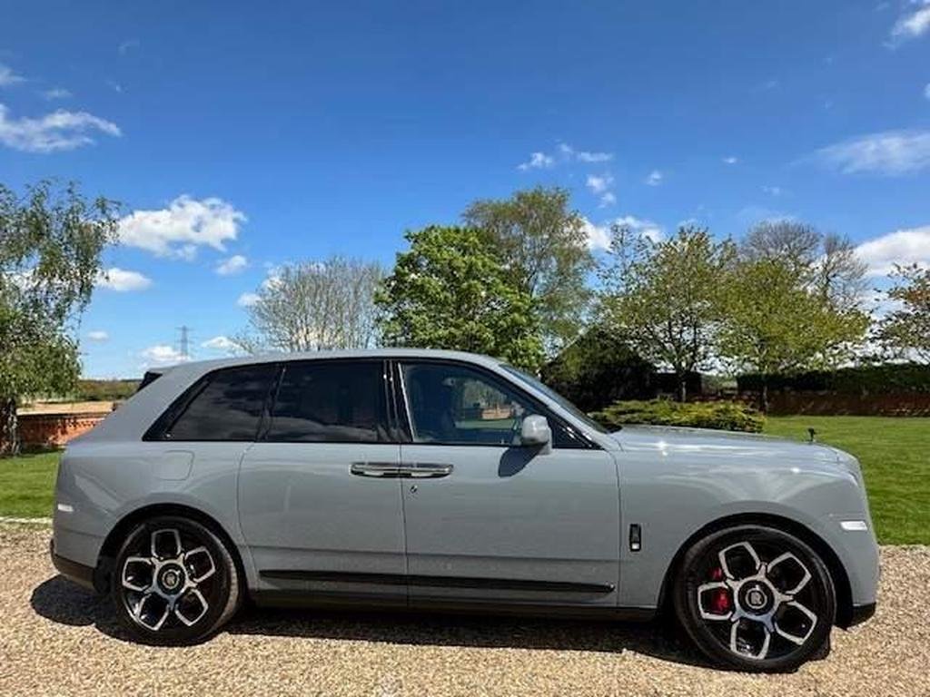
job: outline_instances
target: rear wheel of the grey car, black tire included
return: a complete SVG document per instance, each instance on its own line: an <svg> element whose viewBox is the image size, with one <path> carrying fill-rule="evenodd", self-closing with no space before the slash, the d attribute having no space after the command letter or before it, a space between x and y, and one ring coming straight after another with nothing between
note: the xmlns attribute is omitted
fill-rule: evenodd
<svg viewBox="0 0 930 697"><path fill-rule="evenodd" d="M225 625L242 602L241 584L219 535L193 519L157 516L126 535L110 594L134 638L177 646L203 641Z"/></svg>

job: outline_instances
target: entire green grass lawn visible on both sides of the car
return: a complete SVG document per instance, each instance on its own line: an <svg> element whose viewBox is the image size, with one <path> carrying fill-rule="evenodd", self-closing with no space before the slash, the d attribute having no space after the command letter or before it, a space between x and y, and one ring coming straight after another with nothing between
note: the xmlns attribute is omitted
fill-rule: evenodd
<svg viewBox="0 0 930 697"><path fill-rule="evenodd" d="M856 455L881 542L930 545L930 418L771 416L765 432L817 440ZM0 459L0 516L51 515L58 453Z"/></svg>

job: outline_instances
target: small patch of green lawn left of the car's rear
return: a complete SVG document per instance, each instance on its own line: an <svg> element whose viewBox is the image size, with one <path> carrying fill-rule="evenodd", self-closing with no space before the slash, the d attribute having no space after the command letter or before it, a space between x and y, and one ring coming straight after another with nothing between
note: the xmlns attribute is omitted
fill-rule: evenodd
<svg viewBox="0 0 930 697"><path fill-rule="evenodd" d="M36 453L0 458L0 516L50 516L59 457Z"/></svg>

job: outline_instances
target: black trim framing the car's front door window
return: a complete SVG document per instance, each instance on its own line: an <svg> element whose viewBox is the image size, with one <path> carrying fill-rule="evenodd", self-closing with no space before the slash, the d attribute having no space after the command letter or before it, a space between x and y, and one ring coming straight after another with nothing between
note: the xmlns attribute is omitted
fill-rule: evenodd
<svg viewBox="0 0 930 697"><path fill-rule="evenodd" d="M510 377L506 375L500 375L492 370L489 370L484 365L480 363L472 363L468 361L457 361L455 359L447 358L433 358L426 356L401 356L390 359L392 363L392 381L396 382L397 385L400 385L400 388L396 388L392 385L392 397L394 404L394 410L398 414L399 424L403 426L404 433L404 445L446 445L446 446L455 446L455 447L464 447L464 448L506 448L513 447L507 445L501 445L500 443L463 443L463 442L445 442L445 441L431 441L428 443L419 443L413 440L413 428L411 427L410 414L407 407L406 400L406 389L404 386L404 375L401 371L402 363L438 363L445 365L454 365L456 367L465 367L470 368L471 370L489 377L493 382L503 383L508 388L515 392L517 395L528 401L534 408L535 413L540 416L545 416L549 420L550 425L554 424L558 427L561 427L570 439L578 442L578 447L574 448L565 448L556 447L553 443L553 450L603 450L603 448L596 442L592 441L585 433L578 430L578 428L569 424L565 419L552 412L552 410L540 401L535 395L530 394L523 388L523 386L517 384ZM400 418L399 414L403 414L403 419Z"/></svg>

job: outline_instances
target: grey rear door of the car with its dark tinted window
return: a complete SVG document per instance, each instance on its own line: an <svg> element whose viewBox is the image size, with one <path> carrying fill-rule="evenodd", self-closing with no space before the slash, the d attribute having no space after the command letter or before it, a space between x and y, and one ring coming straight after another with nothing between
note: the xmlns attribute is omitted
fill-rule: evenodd
<svg viewBox="0 0 930 697"><path fill-rule="evenodd" d="M405 603L400 446L379 360L287 362L242 461L261 589Z"/></svg>

